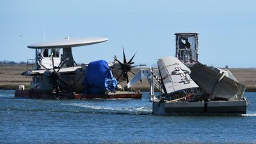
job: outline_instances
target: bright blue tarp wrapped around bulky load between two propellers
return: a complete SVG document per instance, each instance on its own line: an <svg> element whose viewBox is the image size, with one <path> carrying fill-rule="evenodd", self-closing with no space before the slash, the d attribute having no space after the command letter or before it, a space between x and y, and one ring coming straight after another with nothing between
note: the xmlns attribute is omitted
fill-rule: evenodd
<svg viewBox="0 0 256 144"><path fill-rule="evenodd" d="M104 60L93 61L86 68L84 93L100 94L106 91L115 92L117 81L113 77L108 63Z"/></svg>

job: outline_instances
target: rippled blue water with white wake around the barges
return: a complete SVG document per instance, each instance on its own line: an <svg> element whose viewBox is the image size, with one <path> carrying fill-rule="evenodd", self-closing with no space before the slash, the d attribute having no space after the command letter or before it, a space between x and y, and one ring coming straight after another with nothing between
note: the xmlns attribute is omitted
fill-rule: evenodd
<svg viewBox="0 0 256 144"><path fill-rule="evenodd" d="M0 143L256 143L256 93L246 115L151 115L129 100L12 99L0 90Z"/></svg>

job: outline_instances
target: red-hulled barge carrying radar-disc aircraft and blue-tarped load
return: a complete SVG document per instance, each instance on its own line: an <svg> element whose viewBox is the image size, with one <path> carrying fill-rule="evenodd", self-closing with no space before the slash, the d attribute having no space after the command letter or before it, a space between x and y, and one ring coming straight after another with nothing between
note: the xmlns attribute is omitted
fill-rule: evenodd
<svg viewBox="0 0 256 144"><path fill-rule="evenodd" d="M30 90L16 90L15 98L140 99L142 95L140 92L125 91L118 84L115 78L117 76L113 76L112 71L116 70L113 66L119 68L123 64L116 58L115 61L118 62L113 63L99 60L77 65L74 61L72 47L98 44L107 40L108 38L103 37L69 38L68 36L54 42L28 45L28 48L35 49L35 59L33 59L35 65L32 70L26 70L22 75L33 77L33 81ZM132 59L129 62L131 61ZM131 67L132 63L126 65ZM127 74L131 68L124 70L122 74ZM118 76L118 79L120 77Z"/></svg>

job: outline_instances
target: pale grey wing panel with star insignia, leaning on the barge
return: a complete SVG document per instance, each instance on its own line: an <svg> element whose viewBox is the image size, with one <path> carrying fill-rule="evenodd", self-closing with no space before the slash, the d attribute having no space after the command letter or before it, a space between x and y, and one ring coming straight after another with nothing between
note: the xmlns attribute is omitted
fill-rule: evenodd
<svg viewBox="0 0 256 144"><path fill-rule="evenodd" d="M157 65L166 93L198 88L198 85L189 76L189 68L177 58L163 57L157 61Z"/></svg>

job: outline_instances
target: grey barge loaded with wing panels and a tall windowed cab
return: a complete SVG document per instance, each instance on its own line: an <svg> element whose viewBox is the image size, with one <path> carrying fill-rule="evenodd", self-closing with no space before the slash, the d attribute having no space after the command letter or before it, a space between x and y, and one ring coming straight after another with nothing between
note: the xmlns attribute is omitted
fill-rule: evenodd
<svg viewBox="0 0 256 144"><path fill-rule="evenodd" d="M207 67L198 61L198 33L175 33L176 58L157 60L158 70L141 69L127 84L140 79L150 83L154 115L180 113L245 114L245 86L227 69ZM160 95L154 95L157 88Z"/></svg>

